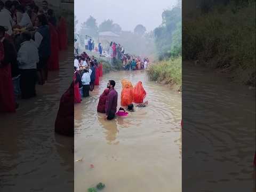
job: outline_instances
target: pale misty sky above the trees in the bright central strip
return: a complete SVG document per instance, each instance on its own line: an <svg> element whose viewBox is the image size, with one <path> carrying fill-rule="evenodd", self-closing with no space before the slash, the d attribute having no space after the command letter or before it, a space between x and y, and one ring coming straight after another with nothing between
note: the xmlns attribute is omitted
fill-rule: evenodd
<svg viewBox="0 0 256 192"><path fill-rule="evenodd" d="M138 24L154 30L162 22L162 12L175 4L177 0L75 0L77 29L92 15L98 25L112 19L122 30L133 31Z"/></svg>

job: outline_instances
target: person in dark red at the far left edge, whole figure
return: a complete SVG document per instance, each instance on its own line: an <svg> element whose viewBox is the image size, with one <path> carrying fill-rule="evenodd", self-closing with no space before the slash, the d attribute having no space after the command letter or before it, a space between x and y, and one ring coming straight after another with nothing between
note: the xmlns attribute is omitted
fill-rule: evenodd
<svg viewBox="0 0 256 192"><path fill-rule="evenodd" d="M0 112L15 112L15 100L11 74L12 44L4 37L6 29L0 26Z"/></svg>

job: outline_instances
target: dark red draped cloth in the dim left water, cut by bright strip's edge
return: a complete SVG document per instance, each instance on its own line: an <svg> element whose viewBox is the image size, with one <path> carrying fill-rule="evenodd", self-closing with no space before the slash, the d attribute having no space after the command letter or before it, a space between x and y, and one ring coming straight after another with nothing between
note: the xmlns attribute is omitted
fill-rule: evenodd
<svg viewBox="0 0 256 192"><path fill-rule="evenodd" d="M55 132L74 137L74 82L60 99L60 107L55 120Z"/></svg>

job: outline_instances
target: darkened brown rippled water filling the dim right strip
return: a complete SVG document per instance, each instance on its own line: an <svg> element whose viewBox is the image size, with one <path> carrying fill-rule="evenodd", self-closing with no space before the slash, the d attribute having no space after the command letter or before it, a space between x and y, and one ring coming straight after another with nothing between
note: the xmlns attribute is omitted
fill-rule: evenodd
<svg viewBox="0 0 256 192"><path fill-rule="evenodd" d="M182 90L182 191L255 191L255 89L186 63Z"/></svg>

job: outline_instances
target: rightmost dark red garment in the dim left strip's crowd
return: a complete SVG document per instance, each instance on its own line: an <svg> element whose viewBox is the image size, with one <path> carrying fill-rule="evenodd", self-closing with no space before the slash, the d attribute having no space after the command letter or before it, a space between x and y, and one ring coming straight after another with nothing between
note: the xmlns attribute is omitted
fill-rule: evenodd
<svg viewBox="0 0 256 192"><path fill-rule="evenodd" d="M63 17L61 17L58 25L58 34L60 50L66 50L68 47L67 23Z"/></svg>

